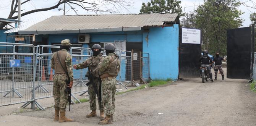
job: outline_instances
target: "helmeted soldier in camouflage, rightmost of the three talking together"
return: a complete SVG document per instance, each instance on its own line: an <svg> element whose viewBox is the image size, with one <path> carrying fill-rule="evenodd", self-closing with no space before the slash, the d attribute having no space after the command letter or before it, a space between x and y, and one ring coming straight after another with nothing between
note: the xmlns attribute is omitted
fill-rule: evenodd
<svg viewBox="0 0 256 126"><path fill-rule="evenodd" d="M102 80L102 103L105 109L105 120L99 122L99 124L112 124L113 113L115 112L115 91L117 89L117 75L120 71L120 60L115 52L115 45L106 44L104 49L106 50L107 57L99 63L100 78Z"/></svg>

